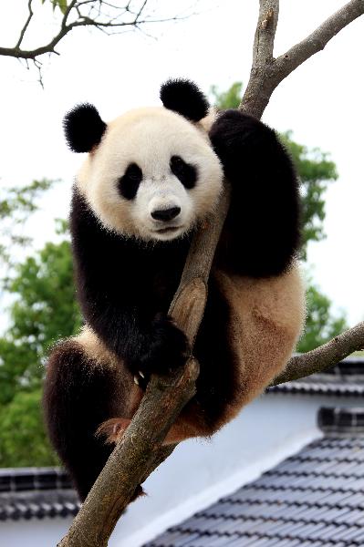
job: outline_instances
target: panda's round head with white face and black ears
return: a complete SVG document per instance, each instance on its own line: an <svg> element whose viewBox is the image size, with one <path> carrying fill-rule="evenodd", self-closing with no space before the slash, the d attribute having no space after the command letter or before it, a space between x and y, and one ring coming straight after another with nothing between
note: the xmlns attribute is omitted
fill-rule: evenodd
<svg viewBox="0 0 364 547"><path fill-rule="evenodd" d="M223 169L201 120L202 92L188 80L161 87L161 108L138 108L106 124L89 104L64 119L68 146L88 152L77 177L99 222L124 236L168 241L213 212Z"/></svg>

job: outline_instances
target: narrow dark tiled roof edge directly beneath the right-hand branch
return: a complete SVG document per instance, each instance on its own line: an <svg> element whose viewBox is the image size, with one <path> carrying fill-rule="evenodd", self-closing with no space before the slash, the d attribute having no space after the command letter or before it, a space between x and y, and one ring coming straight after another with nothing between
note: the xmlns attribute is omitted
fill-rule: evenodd
<svg viewBox="0 0 364 547"><path fill-rule="evenodd" d="M327 371L269 387L267 393L362 397L364 395L364 358L348 357Z"/></svg>

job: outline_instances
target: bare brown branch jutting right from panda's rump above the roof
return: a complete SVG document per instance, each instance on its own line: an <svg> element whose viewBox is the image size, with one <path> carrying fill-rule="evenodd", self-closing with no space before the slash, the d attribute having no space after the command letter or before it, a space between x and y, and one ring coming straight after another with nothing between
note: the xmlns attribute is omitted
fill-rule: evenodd
<svg viewBox="0 0 364 547"><path fill-rule="evenodd" d="M348 329L342 335L335 336L327 344L317 347L317 349L293 356L289 360L286 370L276 377L272 386L321 372L360 349L364 349L364 322Z"/></svg>

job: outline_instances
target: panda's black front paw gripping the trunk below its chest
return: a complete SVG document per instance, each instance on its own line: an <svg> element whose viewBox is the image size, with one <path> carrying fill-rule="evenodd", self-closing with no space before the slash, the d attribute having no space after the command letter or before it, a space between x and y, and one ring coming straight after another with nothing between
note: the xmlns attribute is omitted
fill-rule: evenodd
<svg viewBox="0 0 364 547"><path fill-rule="evenodd" d="M138 374L147 379L152 373L168 374L182 366L191 349L186 335L168 315L157 315L151 324L150 346L135 364Z"/></svg>

